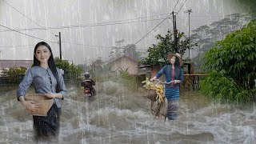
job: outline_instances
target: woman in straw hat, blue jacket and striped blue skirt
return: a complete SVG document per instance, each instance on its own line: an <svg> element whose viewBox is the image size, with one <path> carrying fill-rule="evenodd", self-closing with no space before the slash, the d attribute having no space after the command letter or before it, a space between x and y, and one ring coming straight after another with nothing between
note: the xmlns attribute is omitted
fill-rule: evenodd
<svg viewBox="0 0 256 144"><path fill-rule="evenodd" d="M168 101L166 117L170 120L175 120L178 117L179 86L184 81L183 70L181 68L182 58L178 53L168 54L167 58L170 65L163 66L150 81L165 74L166 82L170 82L170 84L166 84L165 86L165 96Z"/></svg>

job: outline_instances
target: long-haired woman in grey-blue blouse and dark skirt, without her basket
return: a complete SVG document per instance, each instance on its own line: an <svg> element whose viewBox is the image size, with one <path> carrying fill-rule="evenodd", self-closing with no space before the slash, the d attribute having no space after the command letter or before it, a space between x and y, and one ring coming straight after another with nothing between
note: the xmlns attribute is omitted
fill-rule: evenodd
<svg viewBox="0 0 256 144"><path fill-rule="evenodd" d="M18 101L22 102L31 113L36 113L40 105L34 101L25 101L24 98L31 83L36 94L54 99L47 116L33 115L35 138L36 140L58 138L61 115L59 100L66 97L66 86L61 71L55 66L52 50L46 42L38 42L34 47L34 64L26 71L17 90Z"/></svg>

